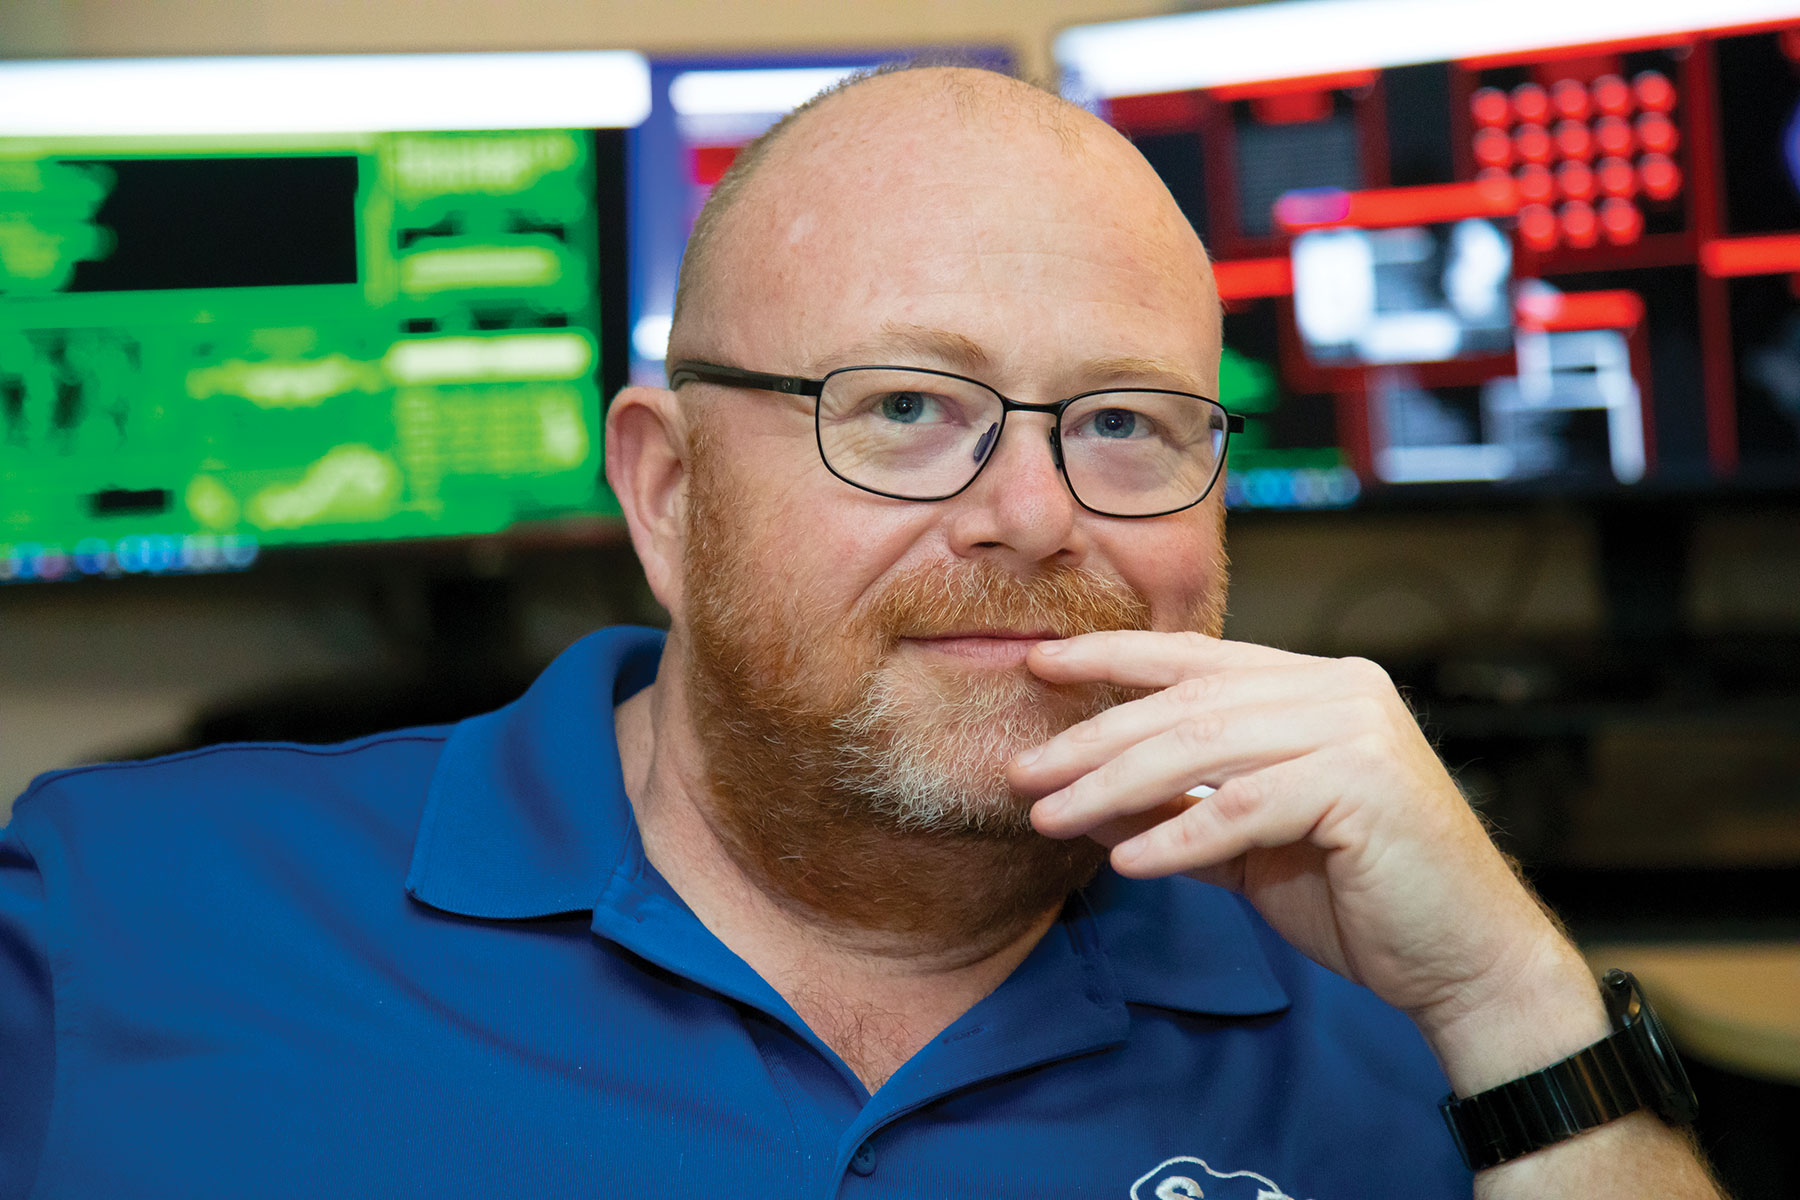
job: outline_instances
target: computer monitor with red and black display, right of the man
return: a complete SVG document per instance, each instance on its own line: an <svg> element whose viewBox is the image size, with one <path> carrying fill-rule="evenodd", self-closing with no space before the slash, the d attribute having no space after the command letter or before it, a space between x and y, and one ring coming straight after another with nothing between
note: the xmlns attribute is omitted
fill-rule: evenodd
<svg viewBox="0 0 1800 1200"><path fill-rule="evenodd" d="M1800 13L1301 0L1075 27L1217 263L1240 509L1800 495Z"/></svg>

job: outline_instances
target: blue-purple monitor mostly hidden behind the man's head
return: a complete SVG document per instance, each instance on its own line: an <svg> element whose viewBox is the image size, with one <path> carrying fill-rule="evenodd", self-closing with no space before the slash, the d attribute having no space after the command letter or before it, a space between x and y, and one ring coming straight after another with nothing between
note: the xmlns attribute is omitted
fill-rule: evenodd
<svg viewBox="0 0 1800 1200"><path fill-rule="evenodd" d="M1012 70L997 45L655 58L650 115L630 131L632 381L664 383L688 232L738 149L846 76L895 61Z"/></svg>

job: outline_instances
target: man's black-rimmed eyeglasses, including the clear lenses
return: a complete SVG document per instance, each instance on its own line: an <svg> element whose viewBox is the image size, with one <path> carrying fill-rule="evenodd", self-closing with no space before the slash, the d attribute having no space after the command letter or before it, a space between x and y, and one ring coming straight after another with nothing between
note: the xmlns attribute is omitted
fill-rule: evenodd
<svg viewBox="0 0 1800 1200"><path fill-rule="evenodd" d="M1082 392L1048 405L918 367L841 367L823 380L677 362L670 387L716 383L812 396L819 457L846 484L895 500L949 500L994 457L1008 412L1048 412L1049 457L1069 495L1102 516L1165 516L1213 489L1244 417L1192 392Z"/></svg>

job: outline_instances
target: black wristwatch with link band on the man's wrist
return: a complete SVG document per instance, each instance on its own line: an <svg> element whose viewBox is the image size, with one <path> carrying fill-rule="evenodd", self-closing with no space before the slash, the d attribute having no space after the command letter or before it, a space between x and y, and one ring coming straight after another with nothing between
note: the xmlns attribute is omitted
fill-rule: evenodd
<svg viewBox="0 0 1800 1200"><path fill-rule="evenodd" d="M1510 1083L1440 1105L1471 1169L1499 1166L1577 1133L1651 1108L1669 1124L1699 1110L1663 1024L1629 972L1600 977L1615 1033Z"/></svg>

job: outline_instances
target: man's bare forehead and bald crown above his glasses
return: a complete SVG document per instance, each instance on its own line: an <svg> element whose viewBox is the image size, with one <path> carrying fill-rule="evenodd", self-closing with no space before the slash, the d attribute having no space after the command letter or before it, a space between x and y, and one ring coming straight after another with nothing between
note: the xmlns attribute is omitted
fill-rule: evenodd
<svg viewBox="0 0 1800 1200"><path fill-rule="evenodd" d="M734 212L722 351L785 371L884 345L936 362L918 331L938 331L1012 374L1136 356L1204 383L1219 318L1199 241L1129 144L1057 115L916 85L814 113Z"/></svg>

